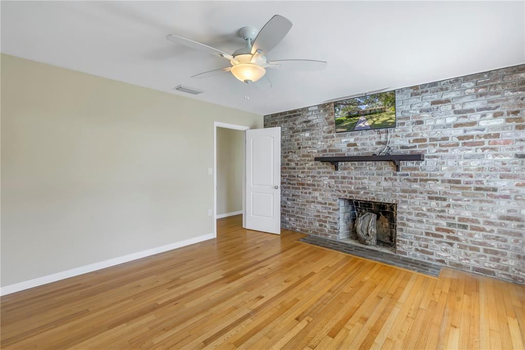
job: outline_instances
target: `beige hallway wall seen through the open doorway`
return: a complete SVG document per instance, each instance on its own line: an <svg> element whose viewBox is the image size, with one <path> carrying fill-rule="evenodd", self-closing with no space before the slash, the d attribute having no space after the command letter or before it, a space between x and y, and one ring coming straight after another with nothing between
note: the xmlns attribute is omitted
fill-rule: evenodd
<svg viewBox="0 0 525 350"><path fill-rule="evenodd" d="M243 210L244 134L217 128L217 214Z"/></svg>

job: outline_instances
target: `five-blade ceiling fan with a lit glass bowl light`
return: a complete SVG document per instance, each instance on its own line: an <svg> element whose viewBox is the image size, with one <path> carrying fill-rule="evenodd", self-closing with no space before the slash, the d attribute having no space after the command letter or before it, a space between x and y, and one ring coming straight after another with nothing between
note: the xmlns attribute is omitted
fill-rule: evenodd
<svg viewBox="0 0 525 350"><path fill-rule="evenodd" d="M269 61L268 58L266 58L266 54L281 42L291 27L292 23L287 18L275 15L270 18L258 33L257 29L253 27L240 28L238 35L246 40L246 46L236 50L231 55L211 46L173 34L166 36L166 39L196 50L201 50L208 54L226 58L230 61L230 66L228 67L208 70L204 73L193 75L192 78L202 79L231 72L234 77L243 81L243 83L248 84L259 81L257 84L259 87L269 88L271 87L271 82L266 76L266 69L268 68L313 71L324 69L327 66L325 61L311 59L281 59Z"/></svg>

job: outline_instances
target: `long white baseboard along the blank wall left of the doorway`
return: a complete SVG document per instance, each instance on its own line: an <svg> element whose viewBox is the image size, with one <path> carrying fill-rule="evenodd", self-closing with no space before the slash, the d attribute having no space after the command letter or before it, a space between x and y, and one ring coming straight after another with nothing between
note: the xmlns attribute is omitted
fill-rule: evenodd
<svg viewBox="0 0 525 350"><path fill-rule="evenodd" d="M197 237L188 238L187 240L178 241L178 242L170 243L166 245L161 245L161 246L157 246L151 249L146 249L146 250L143 250L137 253L131 253L128 255L118 256L117 258L76 267L75 269L61 271L61 272L57 272L57 273L50 274L47 276L37 277L36 279L32 279L32 280L9 284L9 285L6 285L0 288L0 295L15 293L15 292L33 288L39 285L68 279L69 277L78 276L84 273L104 269L105 267L122 264L128 261L144 258L145 256L150 256L150 255L162 253L165 251L169 251L172 249L181 248L182 246L185 246L185 245L190 245L193 243L206 241L212 238L214 238L213 233L207 233L207 234L203 234Z"/></svg>

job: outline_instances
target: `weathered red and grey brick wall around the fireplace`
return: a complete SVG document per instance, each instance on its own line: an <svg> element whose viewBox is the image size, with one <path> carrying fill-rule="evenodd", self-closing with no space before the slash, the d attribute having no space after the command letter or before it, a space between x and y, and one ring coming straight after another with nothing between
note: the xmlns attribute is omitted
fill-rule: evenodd
<svg viewBox="0 0 525 350"><path fill-rule="evenodd" d="M333 104L265 116L282 128L282 227L337 239L339 198L397 204L397 253L525 283L525 65L396 90L394 153L376 131L335 133ZM384 138L385 131L381 131Z"/></svg>

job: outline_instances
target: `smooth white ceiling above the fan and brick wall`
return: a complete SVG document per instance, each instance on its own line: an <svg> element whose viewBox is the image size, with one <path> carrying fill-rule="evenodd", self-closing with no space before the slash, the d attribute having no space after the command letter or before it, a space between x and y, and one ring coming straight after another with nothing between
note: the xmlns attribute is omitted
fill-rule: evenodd
<svg viewBox="0 0 525 350"><path fill-rule="evenodd" d="M366 90L399 88L525 61L524 2L1 2L1 50L59 67L241 110L270 114ZM176 34L232 53L236 32L274 14L293 27L267 56L322 59L320 72L268 71L251 88L228 66L165 39ZM50 82L52 84L52 82ZM205 91L175 92L184 84Z"/></svg>

